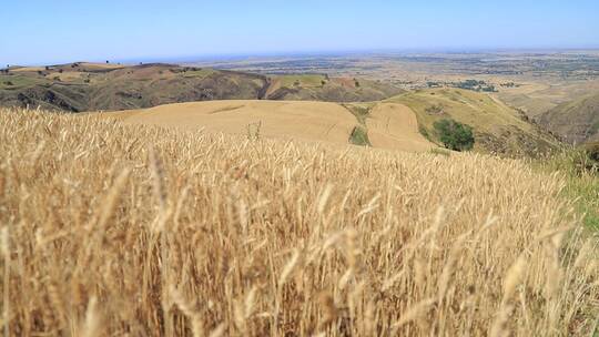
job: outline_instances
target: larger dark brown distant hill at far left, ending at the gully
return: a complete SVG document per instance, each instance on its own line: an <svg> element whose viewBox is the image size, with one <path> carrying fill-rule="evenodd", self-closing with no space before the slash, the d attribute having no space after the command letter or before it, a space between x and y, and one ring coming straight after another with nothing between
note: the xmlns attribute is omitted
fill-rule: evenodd
<svg viewBox="0 0 599 337"><path fill-rule="evenodd" d="M42 68L43 69L43 68ZM71 112L225 99L260 99L265 76L173 64L100 68L72 63L0 74L0 104Z"/></svg>

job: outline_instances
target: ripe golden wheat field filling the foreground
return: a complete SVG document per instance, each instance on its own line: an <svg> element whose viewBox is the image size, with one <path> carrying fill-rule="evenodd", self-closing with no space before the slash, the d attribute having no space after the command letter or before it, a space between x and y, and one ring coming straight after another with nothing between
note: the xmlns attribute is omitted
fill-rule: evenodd
<svg viewBox="0 0 599 337"><path fill-rule="evenodd" d="M591 336L558 174L0 111L6 336Z"/></svg>

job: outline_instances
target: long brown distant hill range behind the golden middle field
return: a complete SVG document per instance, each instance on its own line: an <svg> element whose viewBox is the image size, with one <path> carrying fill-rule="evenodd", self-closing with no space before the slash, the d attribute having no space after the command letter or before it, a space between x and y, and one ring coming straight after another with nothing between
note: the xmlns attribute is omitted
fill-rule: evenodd
<svg viewBox="0 0 599 337"><path fill-rule="evenodd" d="M390 84L326 75L265 76L181 67L77 62L0 72L0 105L71 112L214 100L362 102L400 93Z"/></svg>

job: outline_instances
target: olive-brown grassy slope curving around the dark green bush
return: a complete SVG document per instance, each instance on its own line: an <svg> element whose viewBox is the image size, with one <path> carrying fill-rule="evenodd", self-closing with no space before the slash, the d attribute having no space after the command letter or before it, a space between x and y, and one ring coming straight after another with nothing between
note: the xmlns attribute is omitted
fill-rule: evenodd
<svg viewBox="0 0 599 337"><path fill-rule="evenodd" d="M499 100L461 89L430 89L408 92L387 102L409 106L418 119L420 132L438 143L434 123L453 119L470 125L475 150L514 156L538 156L558 144L548 132Z"/></svg>

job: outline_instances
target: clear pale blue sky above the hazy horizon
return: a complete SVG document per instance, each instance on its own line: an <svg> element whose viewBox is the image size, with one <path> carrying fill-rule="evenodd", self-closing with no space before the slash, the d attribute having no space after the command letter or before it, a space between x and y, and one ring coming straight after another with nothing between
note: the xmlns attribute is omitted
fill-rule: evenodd
<svg viewBox="0 0 599 337"><path fill-rule="evenodd" d="M599 48L597 0L6 0L0 64Z"/></svg>

